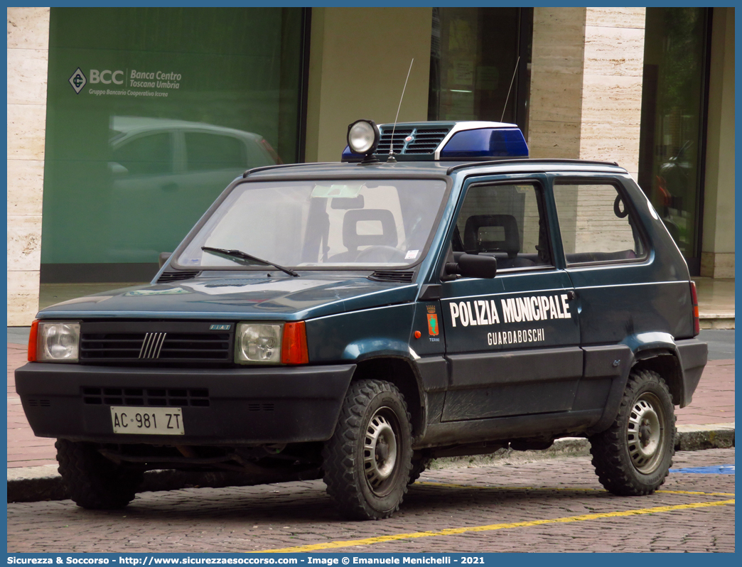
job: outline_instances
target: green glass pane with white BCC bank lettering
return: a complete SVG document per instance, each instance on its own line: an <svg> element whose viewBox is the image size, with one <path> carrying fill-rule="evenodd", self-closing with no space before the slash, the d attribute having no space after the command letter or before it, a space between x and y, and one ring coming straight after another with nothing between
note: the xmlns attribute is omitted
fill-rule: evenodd
<svg viewBox="0 0 742 567"><path fill-rule="evenodd" d="M304 15L51 9L42 283L154 275L234 177L303 159Z"/></svg>

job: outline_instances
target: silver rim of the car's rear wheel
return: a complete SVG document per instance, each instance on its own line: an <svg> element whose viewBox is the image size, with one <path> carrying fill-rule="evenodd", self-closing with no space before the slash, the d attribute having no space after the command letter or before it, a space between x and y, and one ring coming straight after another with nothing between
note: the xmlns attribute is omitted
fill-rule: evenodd
<svg viewBox="0 0 742 567"><path fill-rule="evenodd" d="M637 471L653 473L660 465L665 445L665 413L654 394L643 393L628 414L628 456Z"/></svg>

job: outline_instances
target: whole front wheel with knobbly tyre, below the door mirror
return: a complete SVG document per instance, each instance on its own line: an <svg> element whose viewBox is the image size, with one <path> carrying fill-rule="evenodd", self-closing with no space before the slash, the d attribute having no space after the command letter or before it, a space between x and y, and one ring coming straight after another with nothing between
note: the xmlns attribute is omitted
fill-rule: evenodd
<svg viewBox="0 0 742 567"><path fill-rule="evenodd" d="M412 453L410 414L397 387L353 382L322 451L327 493L352 520L388 518L407 493Z"/></svg>

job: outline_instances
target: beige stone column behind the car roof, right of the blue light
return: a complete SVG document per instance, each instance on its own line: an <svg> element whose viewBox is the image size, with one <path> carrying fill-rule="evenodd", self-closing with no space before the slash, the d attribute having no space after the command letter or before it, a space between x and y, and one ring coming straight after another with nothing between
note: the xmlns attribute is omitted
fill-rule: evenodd
<svg viewBox="0 0 742 567"><path fill-rule="evenodd" d="M533 9L531 157L615 161L636 178L645 8Z"/></svg>

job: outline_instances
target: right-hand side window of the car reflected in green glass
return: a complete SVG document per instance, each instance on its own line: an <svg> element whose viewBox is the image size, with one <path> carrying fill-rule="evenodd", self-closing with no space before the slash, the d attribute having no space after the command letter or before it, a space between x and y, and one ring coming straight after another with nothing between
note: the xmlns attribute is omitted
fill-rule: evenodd
<svg viewBox="0 0 742 567"><path fill-rule="evenodd" d="M188 156L188 171L246 169L249 167L245 149L246 142L256 143L249 139L240 140L220 134L186 132L185 151Z"/></svg>

